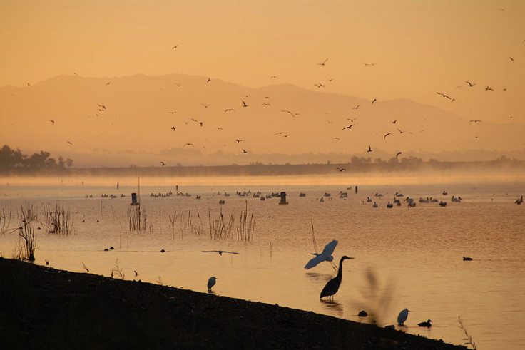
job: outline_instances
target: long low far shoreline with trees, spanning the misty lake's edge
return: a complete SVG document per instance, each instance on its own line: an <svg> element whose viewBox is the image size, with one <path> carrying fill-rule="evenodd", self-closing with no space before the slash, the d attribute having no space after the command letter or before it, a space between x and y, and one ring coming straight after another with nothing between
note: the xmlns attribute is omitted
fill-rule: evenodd
<svg viewBox="0 0 525 350"><path fill-rule="evenodd" d="M41 173L68 173L69 175L159 175L159 176L243 176L243 175L304 175L317 174L329 175L333 173L372 173L372 172L396 172L396 171L454 171L454 170L504 170L525 169L525 161L508 158L501 155L495 160L489 161L442 161L423 160L422 158L409 156L407 158L382 158L353 156L346 163L305 163L305 164L274 164L253 162L248 165L200 165L200 166L149 166L115 168L71 168L73 160L64 160L58 157L58 161L50 158L49 152L41 151L33 155L23 155L20 150L12 150L4 145L0 150L0 172L15 175L38 175Z"/></svg>

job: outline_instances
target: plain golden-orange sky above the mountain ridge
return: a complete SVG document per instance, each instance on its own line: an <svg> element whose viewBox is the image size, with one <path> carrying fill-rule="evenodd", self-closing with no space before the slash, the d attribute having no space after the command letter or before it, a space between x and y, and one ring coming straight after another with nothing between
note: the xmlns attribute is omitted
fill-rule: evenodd
<svg viewBox="0 0 525 350"><path fill-rule="evenodd" d="M3 0L0 47L0 86L185 73L525 123L522 0Z"/></svg>

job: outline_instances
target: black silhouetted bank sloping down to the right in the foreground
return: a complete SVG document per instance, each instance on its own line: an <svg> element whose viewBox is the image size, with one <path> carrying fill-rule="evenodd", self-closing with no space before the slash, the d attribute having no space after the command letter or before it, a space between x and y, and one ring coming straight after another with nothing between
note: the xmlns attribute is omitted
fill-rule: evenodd
<svg viewBox="0 0 525 350"><path fill-rule="evenodd" d="M0 258L2 349L464 349L400 331Z"/></svg>

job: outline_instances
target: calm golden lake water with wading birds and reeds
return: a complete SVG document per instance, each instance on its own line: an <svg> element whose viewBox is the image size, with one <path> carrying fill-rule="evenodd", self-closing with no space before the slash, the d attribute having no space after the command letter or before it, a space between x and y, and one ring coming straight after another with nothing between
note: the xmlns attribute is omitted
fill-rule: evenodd
<svg viewBox="0 0 525 350"><path fill-rule="evenodd" d="M190 196L175 195L175 185ZM248 190L251 195L235 195ZM168 197L150 196L170 191ZM258 191L263 196L285 191L289 204L278 205L277 197L253 197ZM340 198L341 191L346 198ZM51 267L73 272L85 272L85 265L90 273L105 276L113 270L114 277L119 270L125 279L200 292L207 292L208 278L215 276L213 292L218 295L379 326L396 324L402 331L453 344L464 343L461 316L478 349L525 347L525 205L514 203L525 194L525 179L350 174L141 178L140 202L147 219L146 230L139 231L129 230L131 192L138 192L136 178L4 179L0 210L8 217L11 212L11 227L20 225L21 206L33 205L43 224L44 207L58 203L70 212L71 235L36 230L36 264L47 259ZM387 208L396 192L404 195L399 197L402 205ZM331 197L323 197L325 193ZM453 195L462 202L452 202ZM408 207L406 197L417 205ZM419 197L446 200L447 206L420 203ZM238 226L247 208L255 230L243 242ZM215 233L210 222L218 222L221 211L225 225L233 219L228 238L210 235ZM344 262L333 302L319 299L335 276L331 264L303 268L313 257L312 224L319 252L336 239L335 262L345 254L355 257ZM18 244L17 232L0 235L4 257L12 257ZM104 251L109 247L115 249ZM202 252L218 249L238 254ZM473 261L464 262L463 256ZM408 319L397 326L404 308L410 310ZM359 319L362 309L372 316ZM432 319L432 328L417 326L427 319Z"/></svg>

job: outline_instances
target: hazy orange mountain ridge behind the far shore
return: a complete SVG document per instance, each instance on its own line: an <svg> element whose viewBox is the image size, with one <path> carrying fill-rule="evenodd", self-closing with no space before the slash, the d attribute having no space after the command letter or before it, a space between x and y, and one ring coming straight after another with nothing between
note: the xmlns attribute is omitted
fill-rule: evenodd
<svg viewBox="0 0 525 350"><path fill-rule="evenodd" d="M0 105L2 143L24 153L50 150L76 166L307 163L398 152L468 158L476 151L494 159L520 157L525 148L521 124L470 122L409 100L372 104L322 88L248 88L203 76L57 76L1 87Z"/></svg>

